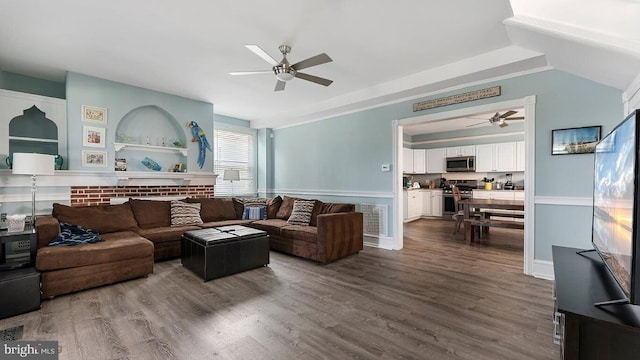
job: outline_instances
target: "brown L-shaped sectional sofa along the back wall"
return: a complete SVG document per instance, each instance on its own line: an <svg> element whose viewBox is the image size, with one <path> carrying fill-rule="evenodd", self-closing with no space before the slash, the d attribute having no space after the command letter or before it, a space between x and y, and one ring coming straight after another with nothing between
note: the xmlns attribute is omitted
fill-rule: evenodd
<svg viewBox="0 0 640 360"><path fill-rule="evenodd" d="M315 200L309 226L287 223L296 198L265 199L267 219L242 220L244 204L231 198L188 198L200 203L203 223L171 226L171 202L130 199L121 205L69 207L54 204L51 217L38 218L36 269L42 274L42 298L147 276L154 261L180 256L185 231L246 225L267 231L271 249L326 264L363 247L362 213L353 204ZM48 246L60 222L100 234L103 242Z"/></svg>

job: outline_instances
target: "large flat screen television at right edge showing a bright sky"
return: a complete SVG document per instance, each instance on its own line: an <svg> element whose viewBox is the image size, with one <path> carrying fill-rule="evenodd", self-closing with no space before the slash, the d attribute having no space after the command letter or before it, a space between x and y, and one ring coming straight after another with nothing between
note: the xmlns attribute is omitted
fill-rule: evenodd
<svg viewBox="0 0 640 360"><path fill-rule="evenodd" d="M635 110L596 145L591 241L625 295L596 305L640 305L639 126Z"/></svg>

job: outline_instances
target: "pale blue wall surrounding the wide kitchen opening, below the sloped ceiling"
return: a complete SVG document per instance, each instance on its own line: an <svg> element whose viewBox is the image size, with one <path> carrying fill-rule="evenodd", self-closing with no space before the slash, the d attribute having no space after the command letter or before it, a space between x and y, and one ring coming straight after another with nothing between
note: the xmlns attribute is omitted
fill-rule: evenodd
<svg viewBox="0 0 640 360"><path fill-rule="evenodd" d="M501 86L499 97L414 113L412 105L448 95ZM381 192L393 189L392 172L380 167L392 163L392 122L471 106L536 96L535 196L589 198L592 155L551 155L551 130L602 125L610 131L624 118L622 92L558 70L542 71L467 87L421 99L364 110L317 122L274 130L274 188L304 189L310 193ZM510 126L511 127L511 126ZM412 139L415 141L415 139ZM508 140L504 140L508 141ZM498 142L498 141L492 141ZM456 145L456 144L451 144ZM450 146L441 143L434 147ZM528 165L530 166L530 165ZM355 197L356 203L385 203L380 197ZM536 205L535 258L551 260L551 245L590 247L590 208L572 205ZM391 210L391 208L389 208ZM547 216L547 214L555 214ZM389 219L393 214L389 213ZM389 223L389 234L393 233Z"/></svg>

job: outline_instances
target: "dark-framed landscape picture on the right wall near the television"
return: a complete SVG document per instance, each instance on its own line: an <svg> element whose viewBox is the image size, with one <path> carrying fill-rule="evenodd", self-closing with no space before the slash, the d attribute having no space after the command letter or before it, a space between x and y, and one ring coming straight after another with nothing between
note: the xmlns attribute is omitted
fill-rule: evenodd
<svg viewBox="0 0 640 360"><path fill-rule="evenodd" d="M600 141L601 126L551 131L551 155L590 154Z"/></svg>

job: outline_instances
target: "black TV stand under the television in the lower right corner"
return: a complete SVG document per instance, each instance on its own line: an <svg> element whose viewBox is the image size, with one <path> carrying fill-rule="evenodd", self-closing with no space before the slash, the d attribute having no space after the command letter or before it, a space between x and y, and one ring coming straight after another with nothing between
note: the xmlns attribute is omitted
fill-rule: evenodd
<svg viewBox="0 0 640 360"><path fill-rule="evenodd" d="M595 252L553 246L555 273L554 341L563 359L638 359L640 306L594 303L623 298Z"/></svg>

